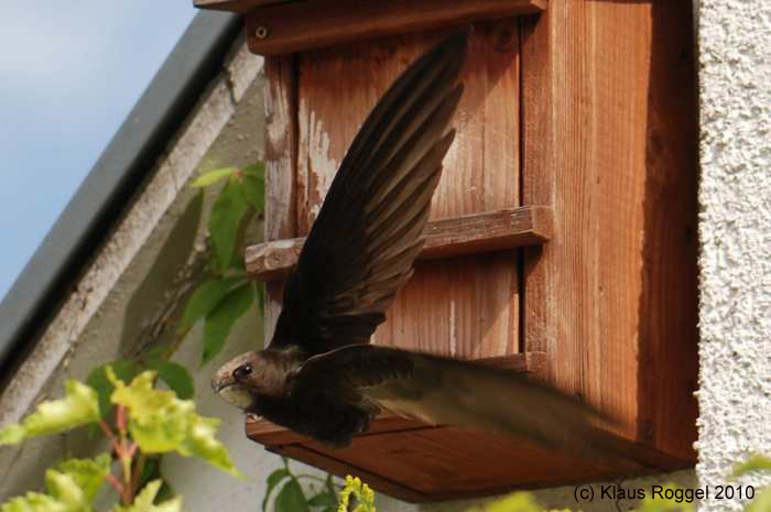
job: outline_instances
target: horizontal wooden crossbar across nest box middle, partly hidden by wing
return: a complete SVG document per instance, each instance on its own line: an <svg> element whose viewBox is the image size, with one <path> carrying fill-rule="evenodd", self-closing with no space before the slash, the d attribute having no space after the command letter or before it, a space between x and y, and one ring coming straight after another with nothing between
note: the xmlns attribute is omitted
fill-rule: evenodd
<svg viewBox="0 0 771 512"><path fill-rule="evenodd" d="M432 220L426 226L425 244L417 258L437 260L540 244L549 240L551 230L551 211L543 206ZM304 243L304 238L293 238L248 247L249 276L263 282L285 277L297 262Z"/></svg>

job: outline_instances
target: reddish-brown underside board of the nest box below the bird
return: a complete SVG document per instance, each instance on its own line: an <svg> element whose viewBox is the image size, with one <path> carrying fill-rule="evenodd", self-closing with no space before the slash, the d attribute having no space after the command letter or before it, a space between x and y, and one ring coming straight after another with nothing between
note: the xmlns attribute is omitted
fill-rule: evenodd
<svg viewBox="0 0 771 512"><path fill-rule="evenodd" d="M525 439L513 440L454 427L359 436L350 447L338 450L317 443L268 449L338 476L360 476L376 491L412 502L500 494L557 483L604 481L619 475L652 475L660 471L656 468L684 467L683 461L651 450L637 450L636 455L642 460L648 457L655 465L588 460L566 457Z"/></svg>

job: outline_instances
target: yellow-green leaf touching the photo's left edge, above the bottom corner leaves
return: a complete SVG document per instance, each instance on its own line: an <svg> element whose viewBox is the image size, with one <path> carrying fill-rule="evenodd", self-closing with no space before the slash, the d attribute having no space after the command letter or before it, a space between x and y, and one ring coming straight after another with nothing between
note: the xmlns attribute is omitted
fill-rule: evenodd
<svg viewBox="0 0 771 512"><path fill-rule="evenodd" d="M64 383L66 395L61 400L46 400L20 424L0 429L0 445L15 445L26 437L57 434L80 425L99 421L97 392L76 380Z"/></svg>

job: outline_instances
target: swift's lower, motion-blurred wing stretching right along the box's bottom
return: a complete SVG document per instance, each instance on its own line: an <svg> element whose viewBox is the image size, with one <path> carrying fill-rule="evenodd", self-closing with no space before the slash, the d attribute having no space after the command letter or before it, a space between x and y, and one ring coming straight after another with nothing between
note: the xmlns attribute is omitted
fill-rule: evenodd
<svg viewBox="0 0 771 512"><path fill-rule="evenodd" d="M395 414L528 438L567 455L610 459L622 451L587 405L522 374L391 347L354 345L308 359L294 382L333 389ZM339 388L338 388L339 386Z"/></svg>

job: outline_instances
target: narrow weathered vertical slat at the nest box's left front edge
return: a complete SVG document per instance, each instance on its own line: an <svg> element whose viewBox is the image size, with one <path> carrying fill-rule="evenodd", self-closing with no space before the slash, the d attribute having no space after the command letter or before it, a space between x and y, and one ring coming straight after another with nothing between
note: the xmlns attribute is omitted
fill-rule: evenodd
<svg viewBox="0 0 771 512"><path fill-rule="evenodd" d="M296 236L297 107L292 56L265 58L265 240ZM281 283L268 283L265 342L281 311Z"/></svg>

